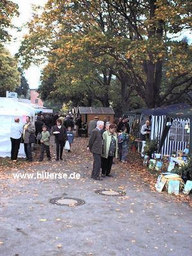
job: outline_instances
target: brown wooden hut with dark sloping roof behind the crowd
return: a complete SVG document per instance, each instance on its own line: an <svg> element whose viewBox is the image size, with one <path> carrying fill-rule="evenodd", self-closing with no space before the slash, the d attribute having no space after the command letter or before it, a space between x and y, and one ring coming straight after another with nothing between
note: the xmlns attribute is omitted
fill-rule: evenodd
<svg viewBox="0 0 192 256"><path fill-rule="evenodd" d="M104 121L108 116L110 117L110 122L114 120L113 108L94 108L94 107L79 107L78 114L81 114L83 123L88 124L93 120L94 116L98 116L99 120Z"/></svg>

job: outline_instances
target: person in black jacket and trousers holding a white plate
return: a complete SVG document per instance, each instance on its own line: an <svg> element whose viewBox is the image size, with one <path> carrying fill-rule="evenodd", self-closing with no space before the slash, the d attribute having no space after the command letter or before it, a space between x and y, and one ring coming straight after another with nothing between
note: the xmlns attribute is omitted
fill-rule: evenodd
<svg viewBox="0 0 192 256"><path fill-rule="evenodd" d="M63 160L63 147L65 146L65 141L68 140L67 132L65 126L61 124L61 120L58 118L56 121L56 125L52 127L52 133L55 136L55 143L56 143L56 161Z"/></svg>

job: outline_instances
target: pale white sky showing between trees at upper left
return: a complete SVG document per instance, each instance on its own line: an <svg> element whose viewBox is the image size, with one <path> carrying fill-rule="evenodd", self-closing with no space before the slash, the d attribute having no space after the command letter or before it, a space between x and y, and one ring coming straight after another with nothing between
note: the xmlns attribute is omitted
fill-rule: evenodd
<svg viewBox="0 0 192 256"><path fill-rule="evenodd" d="M1 1L1 0L0 0ZM47 0L12 0L13 2L19 5L19 17L13 19L13 24L15 26L22 26L32 18L32 8L31 4L40 4L44 6ZM6 44L6 48L11 52L12 55L17 53L20 47L20 42L22 41L22 36L28 32L27 29L23 29L21 32L11 31L10 33L13 35L12 42L10 44ZM16 38L14 40L14 38ZM25 77L28 80L29 88L36 89L38 88L40 81L40 72L43 66L37 67L35 65L31 65L28 70L25 70Z"/></svg>

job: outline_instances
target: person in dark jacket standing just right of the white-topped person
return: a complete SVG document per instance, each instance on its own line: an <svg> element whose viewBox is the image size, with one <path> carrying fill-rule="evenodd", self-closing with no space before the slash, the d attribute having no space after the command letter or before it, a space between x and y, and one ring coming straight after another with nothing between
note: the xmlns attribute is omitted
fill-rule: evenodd
<svg viewBox="0 0 192 256"><path fill-rule="evenodd" d="M35 125L31 124L31 117L26 117L26 124L23 127L23 140L24 140L24 150L26 153L27 160L32 162L32 152L31 152L31 142L29 137L31 134L35 133Z"/></svg>

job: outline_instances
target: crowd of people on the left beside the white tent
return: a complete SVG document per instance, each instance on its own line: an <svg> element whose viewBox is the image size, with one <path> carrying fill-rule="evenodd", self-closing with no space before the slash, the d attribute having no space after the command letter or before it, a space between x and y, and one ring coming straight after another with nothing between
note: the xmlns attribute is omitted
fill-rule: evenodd
<svg viewBox="0 0 192 256"><path fill-rule="evenodd" d="M38 113L35 116L35 124L32 124L31 117L26 116L26 124L22 126L19 118L15 118L15 122L10 128L10 140L12 143L11 159L13 162L17 161L20 143L24 143L24 152L26 160L33 161L31 144L36 143L40 145L40 161L44 159L44 153L47 154L47 159L51 161L50 153L50 138L54 134L56 143L56 161L63 160L63 148L68 141L67 150L70 152L72 143L74 141L74 127L76 125L81 128L81 116L74 119L70 115L42 115ZM79 134L77 134L79 136Z"/></svg>

